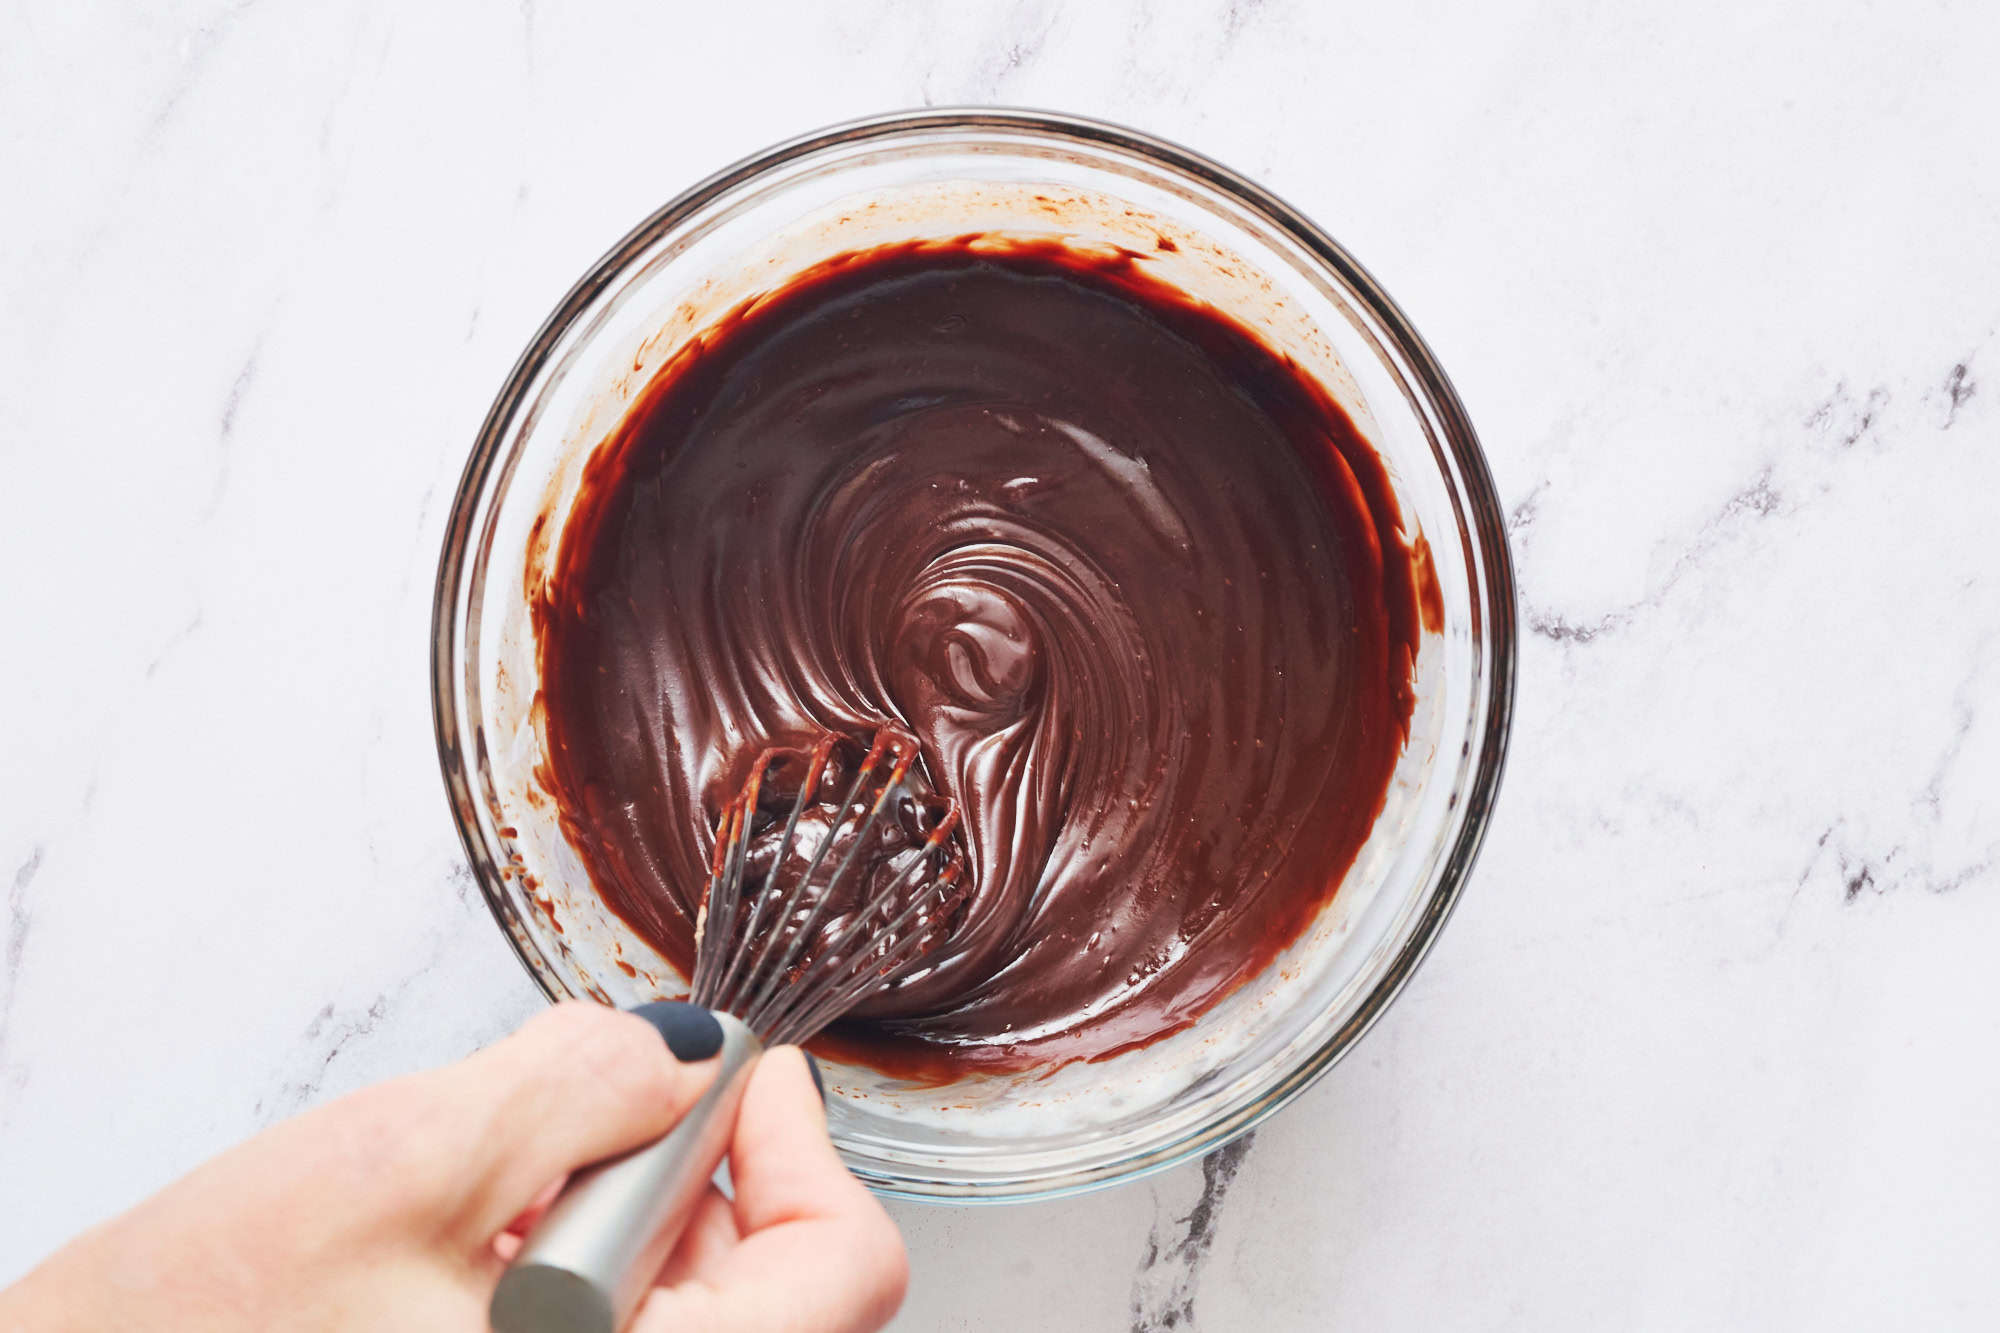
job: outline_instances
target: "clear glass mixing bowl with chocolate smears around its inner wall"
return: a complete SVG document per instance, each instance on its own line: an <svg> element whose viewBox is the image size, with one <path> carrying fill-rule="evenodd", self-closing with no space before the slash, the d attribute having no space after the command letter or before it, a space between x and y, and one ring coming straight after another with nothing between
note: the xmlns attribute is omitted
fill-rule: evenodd
<svg viewBox="0 0 2000 1333"><path fill-rule="evenodd" d="M1512 705L1506 528L1444 370L1346 250L1216 162L1072 116L884 116L740 162L604 256L508 376L444 540L432 687L466 855L536 983L618 1005L678 993L678 975L596 899L538 777L530 594L584 460L688 338L832 254L970 232L1120 246L1308 366L1388 462L1442 600L1374 835L1264 975L1192 1029L1104 1063L944 1089L828 1069L834 1141L870 1187L1000 1201L1128 1181L1282 1107L1382 1015L1472 869Z"/></svg>

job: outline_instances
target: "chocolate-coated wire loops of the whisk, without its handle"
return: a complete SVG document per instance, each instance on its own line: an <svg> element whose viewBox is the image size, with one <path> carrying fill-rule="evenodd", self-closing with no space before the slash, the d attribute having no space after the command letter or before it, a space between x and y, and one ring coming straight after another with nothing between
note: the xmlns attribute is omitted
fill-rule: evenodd
<svg viewBox="0 0 2000 1333"><path fill-rule="evenodd" d="M958 805L918 791L916 739L772 747L716 821L690 999L770 1045L894 987L964 901Z"/></svg>

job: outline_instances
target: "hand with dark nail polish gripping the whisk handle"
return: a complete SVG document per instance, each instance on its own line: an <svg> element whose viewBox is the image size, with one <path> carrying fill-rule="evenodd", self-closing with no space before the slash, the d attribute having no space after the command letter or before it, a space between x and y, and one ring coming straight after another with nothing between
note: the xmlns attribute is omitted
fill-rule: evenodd
<svg viewBox="0 0 2000 1333"><path fill-rule="evenodd" d="M716 1061L644 1019L558 1005L478 1055L276 1125L0 1291L0 1329L484 1331L562 1177L658 1139ZM750 1075L714 1185L632 1333L868 1333L902 1303L902 1237L848 1175L790 1047Z"/></svg>

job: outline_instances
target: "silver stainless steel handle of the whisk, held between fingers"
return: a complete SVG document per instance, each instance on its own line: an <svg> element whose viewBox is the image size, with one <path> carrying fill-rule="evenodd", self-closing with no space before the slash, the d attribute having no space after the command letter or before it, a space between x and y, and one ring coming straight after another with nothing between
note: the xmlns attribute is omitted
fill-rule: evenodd
<svg viewBox="0 0 2000 1333"><path fill-rule="evenodd" d="M728 1149L764 1051L740 1019L714 1019L716 1081L664 1139L570 1177L500 1275L494 1333L618 1333L638 1311Z"/></svg>

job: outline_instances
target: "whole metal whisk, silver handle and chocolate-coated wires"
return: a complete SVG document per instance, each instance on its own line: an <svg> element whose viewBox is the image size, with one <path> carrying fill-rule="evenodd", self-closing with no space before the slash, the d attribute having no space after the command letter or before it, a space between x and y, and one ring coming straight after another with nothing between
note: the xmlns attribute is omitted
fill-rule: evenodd
<svg viewBox="0 0 2000 1333"><path fill-rule="evenodd" d="M644 1299L728 1145L750 1065L894 987L964 897L958 807L926 801L916 739L884 729L758 755L716 821L694 925L690 1005L646 1005L714 1083L658 1143L578 1171L492 1299L496 1333L616 1333ZM790 801L786 801L788 789ZM838 805L822 793L840 791ZM690 1053L692 1051L692 1053Z"/></svg>

